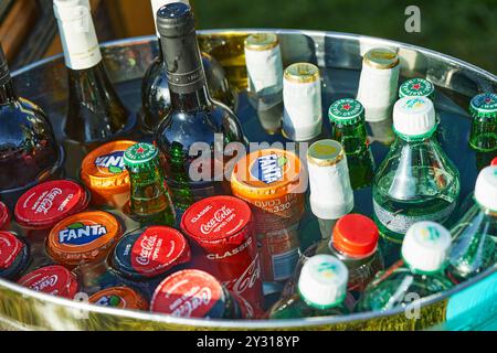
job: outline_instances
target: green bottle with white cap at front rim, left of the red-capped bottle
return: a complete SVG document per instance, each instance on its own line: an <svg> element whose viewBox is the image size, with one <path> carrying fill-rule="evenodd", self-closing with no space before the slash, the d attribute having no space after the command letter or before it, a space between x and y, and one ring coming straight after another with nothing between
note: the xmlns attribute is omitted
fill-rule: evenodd
<svg viewBox="0 0 497 353"><path fill-rule="evenodd" d="M279 300L269 311L271 319L299 319L342 315L346 304L347 267L330 255L316 255L302 268L297 291Z"/></svg>

